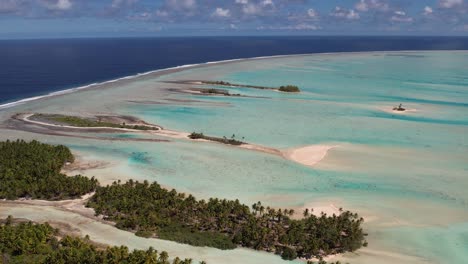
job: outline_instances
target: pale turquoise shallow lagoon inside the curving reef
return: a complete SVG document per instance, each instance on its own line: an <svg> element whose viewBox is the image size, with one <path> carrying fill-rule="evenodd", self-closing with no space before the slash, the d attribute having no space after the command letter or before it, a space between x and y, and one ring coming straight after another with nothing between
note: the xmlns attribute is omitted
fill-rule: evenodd
<svg viewBox="0 0 468 264"><path fill-rule="evenodd" d="M105 142L10 130L2 131L1 137L67 144L81 158L107 164L86 171L105 183L156 180L200 198L238 198L247 204L260 200L297 210L334 206L357 211L366 218L370 245L340 260L467 263L467 73L468 52L462 51L286 56L147 75L0 111L4 118L20 111L118 113L171 130L235 134L279 149L338 146L314 167L187 140ZM188 87L167 82L175 80L294 84L302 92L236 87L230 92L249 97L202 96L174 92L171 89ZM409 111L393 113L392 107L400 103ZM128 243L142 247L141 241ZM177 253L178 246L173 247ZM201 254L192 248L191 254L208 262L219 260L214 251ZM270 261L260 253L248 256L258 258L253 263ZM241 262L232 258L226 263Z"/></svg>

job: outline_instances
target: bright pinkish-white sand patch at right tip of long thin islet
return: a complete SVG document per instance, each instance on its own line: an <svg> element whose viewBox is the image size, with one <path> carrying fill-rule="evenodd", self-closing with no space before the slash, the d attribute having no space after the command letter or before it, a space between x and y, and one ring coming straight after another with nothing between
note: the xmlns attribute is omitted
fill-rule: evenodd
<svg viewBox="0 0 468 264"><path fill-rule="evenodd" d="M285 158L297 163L313 167L325 158L330 149L338 145L310 145L283 151Z"/></svg>

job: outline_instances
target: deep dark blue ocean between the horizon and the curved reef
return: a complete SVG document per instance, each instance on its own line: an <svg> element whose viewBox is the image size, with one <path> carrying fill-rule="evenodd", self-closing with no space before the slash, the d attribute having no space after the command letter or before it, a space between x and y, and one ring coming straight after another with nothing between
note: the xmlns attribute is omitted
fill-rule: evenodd
<svg viewBox="0 0 468 264"><path fill-rule="evenodd" d="M258 56L468 50L468 37L177 37L0 41L0 103L151 70Z"/></svg>

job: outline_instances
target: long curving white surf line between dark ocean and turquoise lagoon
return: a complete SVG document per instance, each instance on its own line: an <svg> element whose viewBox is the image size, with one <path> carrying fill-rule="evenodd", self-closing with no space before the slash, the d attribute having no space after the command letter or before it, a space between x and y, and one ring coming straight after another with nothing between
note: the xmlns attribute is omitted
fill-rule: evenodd
<svg viewBox="0 0 468 264"><path fill-rule="evenodd" d="M14 101L11 101L11 102L9 101L0 102L0 111L11 108L11 107L15 107L17 105L23 105L32 101L39 101L41 99L62 96L62 95L70 94L70 93L83 91L83 90L104 88L102 86L106 86L106 85L110 85L110 84L114 84L118 82L129 81L129 80L133 80L136 78L159 77L159 76L163 76L166 74L180 72L186 69L209 67L212 65L222 65L222 64L228 64L228 63L233 63L233 62L255 61L255 60L276 59L276 58L293 58L293 57L303 57L303 56L343 55L343 54L362 55L362 54L412 53L412 52L424 52L424 53L426 52L460 52L462 53L462 52L468 52L468 50L400 50L400 51L381 50L381 51L350 51L350 52L338 51L338 52L317 52L317 53L302 53L302 54L283 54L283 55L272 55L272 56L258 56L258 57L250 57L250 58L227 59L227 60L219 60L219 61L208 61L208 62L201 62L201 63L196 63L196 64L185 64L185 65L179 65L179 66L174 66L174 67L169 67L169 68L156 69L156 70L137 73L133 75L127 75L127 76L119 77L116 79L110 79L110 80L106 80L102 82L93 82L93 83L89 83L86 85L81 85L81 86L77 86L73 88L47 92L46 94L43 94L43 95L36 95L36 96L26 97L22 99L13 99Z"/></svg>

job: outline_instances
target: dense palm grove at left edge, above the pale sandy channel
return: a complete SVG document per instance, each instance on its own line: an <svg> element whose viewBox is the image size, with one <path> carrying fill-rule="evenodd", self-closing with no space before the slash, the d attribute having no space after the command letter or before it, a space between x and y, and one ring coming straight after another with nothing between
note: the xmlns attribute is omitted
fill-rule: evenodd
<svg viewBox="0 0 468 264"><path fill-rule="evenodd" d="M23 140L0 142L0 199L60 200L94 191L96 179L60 173L63 165L73 160L70 150L62 145Z"/></svg>

